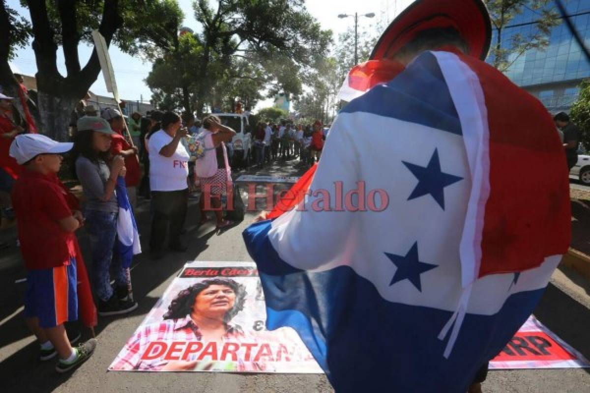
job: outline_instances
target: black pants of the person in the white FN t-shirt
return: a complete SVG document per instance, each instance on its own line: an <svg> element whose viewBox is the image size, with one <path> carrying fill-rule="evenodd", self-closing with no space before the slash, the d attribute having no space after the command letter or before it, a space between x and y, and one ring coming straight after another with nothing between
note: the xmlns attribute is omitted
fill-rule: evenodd
<svg viewBox="0 0 590 393"><path fill-rule="evenodd" d="M149 245L151 251L161 250L169 233L169 245L180 243L182 227L188 209L188 189L178 191L152 191L152 233Z"/></svg>

